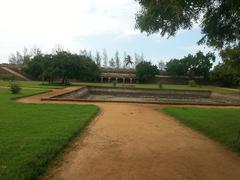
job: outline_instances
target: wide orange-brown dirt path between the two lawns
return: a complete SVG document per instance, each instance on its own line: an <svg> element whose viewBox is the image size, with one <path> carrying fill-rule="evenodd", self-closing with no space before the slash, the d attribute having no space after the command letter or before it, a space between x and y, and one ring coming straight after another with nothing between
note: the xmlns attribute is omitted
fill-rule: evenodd
<svg viewBox="0 0 240 180"><path fill-rule="evenodd" d="M238 155L160 113L162 106L97 105L101 114L50 169L50 179L240 179Z"/></svg>

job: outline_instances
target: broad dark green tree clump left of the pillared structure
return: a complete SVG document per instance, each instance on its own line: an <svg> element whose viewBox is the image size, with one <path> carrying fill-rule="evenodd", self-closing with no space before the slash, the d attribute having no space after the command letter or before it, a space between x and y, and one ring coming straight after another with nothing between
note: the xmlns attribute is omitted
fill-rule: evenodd
<svg viewBox="0 0 240 180"><path fill-rule="evenodd" d="M61 79L66 84L69 79L96 81L100 76L99 67L85 55L56 51L54 54L34 56L23 68L24 72L36 80L52 83Z"/></svg>

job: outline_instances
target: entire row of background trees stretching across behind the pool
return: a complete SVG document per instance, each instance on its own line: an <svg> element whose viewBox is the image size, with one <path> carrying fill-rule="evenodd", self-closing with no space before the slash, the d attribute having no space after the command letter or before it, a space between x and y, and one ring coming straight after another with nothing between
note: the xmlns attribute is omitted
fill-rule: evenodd
<svg viewBox="0 0 240 180"><path fill-rule="evenodd" d="M35 80L49 81L61 80L67 83L69 79L78 81L97 81L101 74L101 68L134 68L139 82L152 80L159 71L166 72L172 76L188 76L194 79L201 76L208 82L222 86L238 86L240 83L240 65L236 59L236 51L226 49L221 52L223 62L213 68L215 56L213 53L204 54L199 51L196 54L189 54L180 59L171 59L168 62L160 61L158 67L151 61L146 61L143 55L135 54L133 59L124 53L123 60L120 60L119 52L108 61L107 51L99 51L95 57L90 51L71 53L61 48L53 50L50 54L44 54L38 48L29 52L26 48L23 53L16 52L10 56L9 62L20 64L23 71ZM125 59L124 59L125 58Z"/></svg>

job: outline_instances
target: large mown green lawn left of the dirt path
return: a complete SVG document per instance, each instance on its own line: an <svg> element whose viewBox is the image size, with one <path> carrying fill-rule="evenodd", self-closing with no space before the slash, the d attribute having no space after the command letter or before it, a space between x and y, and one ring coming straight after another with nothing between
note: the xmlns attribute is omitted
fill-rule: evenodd
<svg viewBox="0 0 240 180"><path fill-rule="evenodd" d="M94 105L23 104L0 88L0 179L36 179L98 112Z"/></svg>

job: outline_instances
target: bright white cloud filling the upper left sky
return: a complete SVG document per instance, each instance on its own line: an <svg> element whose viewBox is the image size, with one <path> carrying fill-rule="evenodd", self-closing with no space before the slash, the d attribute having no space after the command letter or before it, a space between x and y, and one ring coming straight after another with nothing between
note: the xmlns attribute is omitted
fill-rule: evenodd
<svg viewBox="0 0 240 180"><path fill-rule="evenodd" d="M0 0L0 62L24 46L77 48L75 37L135 35L134 0Z"/></svg>

